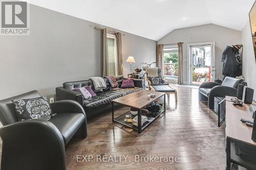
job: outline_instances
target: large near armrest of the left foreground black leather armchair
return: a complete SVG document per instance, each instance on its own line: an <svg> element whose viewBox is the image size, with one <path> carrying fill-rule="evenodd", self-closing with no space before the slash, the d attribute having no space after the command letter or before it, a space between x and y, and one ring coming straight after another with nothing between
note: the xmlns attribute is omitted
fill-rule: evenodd
<svg viewBox="0 0 256 170"><path fill-rule="evenodd" d="M51 122L23 120L0 128L0 136L1 169L66 169L65 143Z"/></svg>

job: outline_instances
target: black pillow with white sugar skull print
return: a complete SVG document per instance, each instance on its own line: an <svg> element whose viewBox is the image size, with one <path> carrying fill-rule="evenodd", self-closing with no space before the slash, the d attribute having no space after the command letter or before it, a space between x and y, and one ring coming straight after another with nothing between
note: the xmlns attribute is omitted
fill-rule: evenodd
<svg viewBox="0 0 256 170"><path fill-rule="evenodd" d="M18 120L31 118L49 120L53 116L45 95L33 99L12 100L12 103L15 105Z"/></svg>

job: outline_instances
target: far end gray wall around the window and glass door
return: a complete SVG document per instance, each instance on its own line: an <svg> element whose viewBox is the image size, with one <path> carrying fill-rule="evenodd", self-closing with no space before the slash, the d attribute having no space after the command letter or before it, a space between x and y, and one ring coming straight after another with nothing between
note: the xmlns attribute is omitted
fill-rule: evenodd
<svg viewBox="0 0 256 170"><path fill-rule="evenodd" d="M191 36L191 38L189 38ZM222 63L221 57L227 45L241 43L241 32L228 29L225 27L217 26L214 24L189 27L178 29L170 32L161 38L158 44L168 43L183 43L183 82L187 83L187 44L199 42L212 42L216 41L215 46L215 65L216 65L216 78L223 78L221 74Z"/></svg>

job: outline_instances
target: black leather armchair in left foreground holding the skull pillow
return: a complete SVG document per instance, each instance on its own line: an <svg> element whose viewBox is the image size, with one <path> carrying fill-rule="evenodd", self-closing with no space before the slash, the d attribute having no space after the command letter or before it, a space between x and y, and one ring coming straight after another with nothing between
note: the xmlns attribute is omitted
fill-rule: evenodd
<svg viewBox="0 0 256 170"><path fill-rule="evenodd" d="M86 114L74 101L51 103L57 114L48 121L17 121L11 100L39 96L34 90L0 101L1 169L66 169L65 145L73 136L87 137Z"/></svg>

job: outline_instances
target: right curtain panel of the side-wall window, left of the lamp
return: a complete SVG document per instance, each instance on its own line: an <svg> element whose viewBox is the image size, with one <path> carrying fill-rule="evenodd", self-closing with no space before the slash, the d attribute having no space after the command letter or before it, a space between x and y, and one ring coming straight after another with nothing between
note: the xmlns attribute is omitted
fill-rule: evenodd
<svg viewBox="0 0 256 170"><path fill-rule="evenodd" d="M123 75L123 54L122 54L122 34L116 33L117 44L117 74Z"/></svg>

